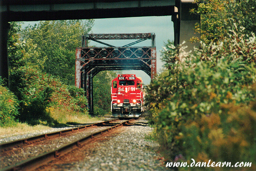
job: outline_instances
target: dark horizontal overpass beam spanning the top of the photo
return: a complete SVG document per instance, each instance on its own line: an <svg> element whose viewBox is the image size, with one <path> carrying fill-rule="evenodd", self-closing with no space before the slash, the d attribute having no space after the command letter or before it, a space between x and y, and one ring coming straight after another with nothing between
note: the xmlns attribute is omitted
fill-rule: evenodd
<svg viewBox="0 0 256 171"><path fill-rule="evenodd" d="M6 0L0 13L8 21L169 16L175 0Z"/></svg>

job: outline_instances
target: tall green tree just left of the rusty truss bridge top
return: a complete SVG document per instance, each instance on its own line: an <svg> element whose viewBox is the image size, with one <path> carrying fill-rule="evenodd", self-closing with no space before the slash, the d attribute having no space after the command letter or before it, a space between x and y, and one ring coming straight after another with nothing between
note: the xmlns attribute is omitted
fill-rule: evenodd
<svg viewBox="0 0 256 171"><path fill-rule="evenodd" d="M82 34L91 31L93 19L41 21L23 30L26 42L24 59L43 72L74 85L75 48Z"/></svg>

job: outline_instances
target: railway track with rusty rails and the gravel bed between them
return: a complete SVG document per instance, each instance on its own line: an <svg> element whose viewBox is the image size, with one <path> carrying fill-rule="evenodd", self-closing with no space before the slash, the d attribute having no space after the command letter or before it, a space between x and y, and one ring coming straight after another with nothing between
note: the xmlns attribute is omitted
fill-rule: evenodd
<svg viewBox="0 0 256 171"><path fill-rule="evenodd" d="M39 163L42 164L59 157L62 152L65 153L74 148L79 148L94 136L99 136L115 127L125 125L130 120L123 120L120 123L121 120L113 119L0 144L0 168L3 168L1 171L19 170L21 168L24 168L23 170L28 170L28 168L33 170L33 167L38 166Z"/></svg>

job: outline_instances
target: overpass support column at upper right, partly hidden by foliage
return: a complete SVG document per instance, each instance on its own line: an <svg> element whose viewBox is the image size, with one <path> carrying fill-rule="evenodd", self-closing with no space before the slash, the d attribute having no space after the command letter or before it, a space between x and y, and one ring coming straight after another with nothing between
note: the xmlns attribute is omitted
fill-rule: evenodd
<svg viewBox="0 0 256 171"><path fill-rule="evenodd" d="M192 43L190 39L200 37L200 34L195 32L195 23L200 23L200 15L192 14L189 12L192 8L197 8L197 4L193 3L194 0L179 0L176 3L177 15L172 17L174 22L175 31L175 45L181 44L185 41L188 46L187 52L194 50L194 47L199 47L199 43Z"/></svg>

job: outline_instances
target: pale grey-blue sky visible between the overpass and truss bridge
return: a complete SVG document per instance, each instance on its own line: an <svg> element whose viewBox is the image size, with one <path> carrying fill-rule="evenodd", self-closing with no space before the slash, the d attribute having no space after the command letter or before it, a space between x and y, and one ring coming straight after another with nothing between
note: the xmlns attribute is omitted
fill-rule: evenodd
<svg viewBox="0 0 256 171"><path fill-rule="evenodd" d="M28 24L33 26L34 23L35 22L24 22L24 26L27 26ZM155 33L158 72L161 71L163 65L160 59L160 51L163 49L164 42L166 43L168 39L174 40L172 16L95 19L91 33ZM101 40L101 42L106 42L114 46L123 46L135 41L136 40ZM104 46L93 41L90 42L90 45L98 47ZM151 40L140 42L134 46L151 46ZM136 74L137 77L142 78L144 84L147 85L150 83L150 77L144 71L125 70L122 71L122 74Z"/></svg>

